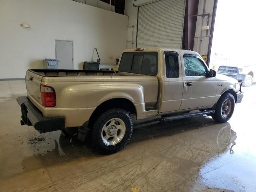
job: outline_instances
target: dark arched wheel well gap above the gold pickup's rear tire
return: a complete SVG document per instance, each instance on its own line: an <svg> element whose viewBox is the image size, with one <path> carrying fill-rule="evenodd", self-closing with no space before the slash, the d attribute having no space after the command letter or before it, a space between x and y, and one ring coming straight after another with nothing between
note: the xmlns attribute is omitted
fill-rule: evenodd
<svg viewBox="0 0 256 192"><path fill-rule="evenodd" d="M122 108L127 112L129 112L130 114L136 114L136 108L130 100L125 98L114 98L114 99L107 100L102 104L100 104L99 106L97 106L97 108L94 110L94 112L90 116L88 126L92 127L97 117L100 116L100 114L112 108Z"/></svg>

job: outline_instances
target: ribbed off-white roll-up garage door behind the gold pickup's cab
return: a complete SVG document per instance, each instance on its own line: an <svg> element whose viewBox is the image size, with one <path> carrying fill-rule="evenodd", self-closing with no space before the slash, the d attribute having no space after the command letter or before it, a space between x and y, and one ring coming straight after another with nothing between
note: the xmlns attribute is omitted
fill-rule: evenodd
<svg viewBox="0 0 256 192"><path fill-rule="evenodd" d="M160 0L139 7L137 47L182 48L185 0Z"/></svg>

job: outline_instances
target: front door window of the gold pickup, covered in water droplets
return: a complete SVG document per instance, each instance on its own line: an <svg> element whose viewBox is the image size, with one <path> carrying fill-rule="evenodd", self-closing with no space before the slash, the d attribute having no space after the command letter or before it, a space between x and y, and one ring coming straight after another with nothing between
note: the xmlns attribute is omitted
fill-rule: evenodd
<svg viewBox="0 0 256 192"><path fill-rule="evenodd" d="M207 68L204 62L195 55L184 55L186 76L206 76Z"/></svg>

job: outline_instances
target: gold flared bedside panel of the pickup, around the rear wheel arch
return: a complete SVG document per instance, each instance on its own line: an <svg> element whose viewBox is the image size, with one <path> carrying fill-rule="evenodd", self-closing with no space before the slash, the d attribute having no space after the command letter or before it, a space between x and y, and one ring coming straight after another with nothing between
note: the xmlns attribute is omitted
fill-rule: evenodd
<svg viewBox="0 0 256 192"><path fill-rule="evenodd" d="M56 77L57 78L57 77ZM153 107L158 97L158 79L151 76L43 78L42 84L56 92L56 107L38 106L44 116L64 116L66 126L82 126L97 106L113 98L126 98L134 105ZM76 79L76 81L74 81ZM142 111L137 111L141 114Z"/></svg>

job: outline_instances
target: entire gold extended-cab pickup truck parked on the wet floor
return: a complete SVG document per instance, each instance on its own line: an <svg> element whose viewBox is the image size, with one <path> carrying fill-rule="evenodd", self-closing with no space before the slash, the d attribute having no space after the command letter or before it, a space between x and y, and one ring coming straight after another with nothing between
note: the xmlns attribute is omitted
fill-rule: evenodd
<svg viewBox="0 0 256 192"><path fill-rule="evenodd" d="M28 70L26 87L17 98L22 125L40 133L79 128L105 154L128 143L133 118L208 114L226 122L243 97L237 80L216 75L197 52L160 48L124 50L117 71Z"/></svg>

